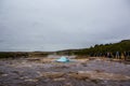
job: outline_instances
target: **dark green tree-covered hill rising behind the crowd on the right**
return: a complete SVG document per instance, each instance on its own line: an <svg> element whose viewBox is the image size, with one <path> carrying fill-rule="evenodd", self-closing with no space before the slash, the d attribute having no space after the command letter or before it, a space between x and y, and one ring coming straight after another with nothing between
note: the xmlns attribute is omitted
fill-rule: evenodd
<svg viewBox="0 0 130 86"><path fill-rule="evenodd" d="M107 52L116 53L116 52L130 52L130 40L122 40L118 43L109 43L109 44L95 44L89 48L82 49L65 49L58 51L57 54L75 54L75 55L92 55L92 54L105 54Z"/></svg>

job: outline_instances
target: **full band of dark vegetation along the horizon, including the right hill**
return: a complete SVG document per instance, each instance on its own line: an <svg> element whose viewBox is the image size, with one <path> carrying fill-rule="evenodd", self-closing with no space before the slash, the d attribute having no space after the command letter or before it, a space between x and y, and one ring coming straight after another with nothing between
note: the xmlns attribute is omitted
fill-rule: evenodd
<svg viewBox="0 0 130 86"><path fill-rule="evenodd" d="M17 58L17 57L46 57L49 54L57 55L78 55L83 57L96 57L96 56L106 56L107 53L110 53L115 57L116 53L119 52L120 55L123 55L126 52L130 57L130 40L123 40L119 43L109 43L109 44L95 44L89 48L82 49L65 49L58 51L55 53L52 52L0 52L0 58Z"/></svg>

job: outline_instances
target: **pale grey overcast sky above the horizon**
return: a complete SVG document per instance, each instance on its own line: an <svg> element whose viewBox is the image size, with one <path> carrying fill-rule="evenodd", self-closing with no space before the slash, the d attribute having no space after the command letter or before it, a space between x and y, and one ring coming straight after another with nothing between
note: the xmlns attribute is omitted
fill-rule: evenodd
<svg viewBox="0 0 130 86"><path fill-rule="evenodd" d="M0 0L0 52L86 48L130 39L130 0Z"/></svg>

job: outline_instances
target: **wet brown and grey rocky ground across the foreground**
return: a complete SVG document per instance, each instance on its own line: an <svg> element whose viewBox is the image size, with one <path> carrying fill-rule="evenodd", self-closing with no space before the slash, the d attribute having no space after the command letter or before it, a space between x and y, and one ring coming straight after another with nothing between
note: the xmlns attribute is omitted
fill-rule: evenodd
<svg viewBox="0 0 130 86"><path fill-rule="evenodd" d="M130 86L130 64L101 59L0 59L0 86Z"/></svg>

